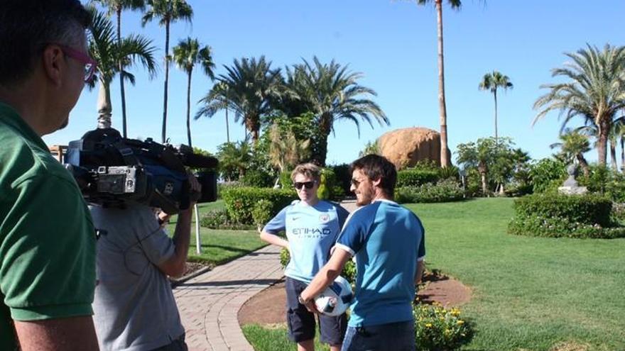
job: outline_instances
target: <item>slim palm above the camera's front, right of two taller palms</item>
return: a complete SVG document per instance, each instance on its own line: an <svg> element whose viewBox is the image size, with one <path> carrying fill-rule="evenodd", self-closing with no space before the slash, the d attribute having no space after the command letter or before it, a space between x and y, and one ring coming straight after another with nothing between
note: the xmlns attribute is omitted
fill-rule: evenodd
<svg viewBox="0 0 625 351"><path fill-rule="evenodd" d="M193 67L195 67L196 64L200 64L202 69L204 69L204 73L210 77L211 80L214 79L213 69L215 65L212 60L212 49L208 45L200 49L200 43L197 39L187 38L185 40L180 40L180 43L173 48L173 60L180 69L187 72L187 140L189 146L192 146L190 124L191 75Z"/></svg>

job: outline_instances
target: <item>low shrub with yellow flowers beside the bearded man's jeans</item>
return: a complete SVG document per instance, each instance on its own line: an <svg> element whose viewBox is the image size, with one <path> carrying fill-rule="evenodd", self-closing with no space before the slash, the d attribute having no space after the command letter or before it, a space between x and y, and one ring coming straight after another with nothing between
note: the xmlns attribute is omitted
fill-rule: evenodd
<svg viewBox="0 0 625 351"><path fill-rule="evenodd" d="M414 305L417 350L457 350L468 344L474 331L461 315L458 308L443 308L439 303Z"/></svg>

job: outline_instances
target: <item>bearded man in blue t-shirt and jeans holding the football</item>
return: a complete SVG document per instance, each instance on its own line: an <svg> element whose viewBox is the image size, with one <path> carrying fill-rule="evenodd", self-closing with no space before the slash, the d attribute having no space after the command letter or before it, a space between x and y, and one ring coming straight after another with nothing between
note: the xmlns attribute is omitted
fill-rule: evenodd
<svg viewBox="0 0 625 351"><path fill-rule="evenodd" d="M379 155L352 163L352 191L362 206L347 219L330 261L299 296L315 311L314 296L330 285L350 257L357 280L342 350L415 350L412 301L425 257L424 230L393 199L397 172Z"/></svg>

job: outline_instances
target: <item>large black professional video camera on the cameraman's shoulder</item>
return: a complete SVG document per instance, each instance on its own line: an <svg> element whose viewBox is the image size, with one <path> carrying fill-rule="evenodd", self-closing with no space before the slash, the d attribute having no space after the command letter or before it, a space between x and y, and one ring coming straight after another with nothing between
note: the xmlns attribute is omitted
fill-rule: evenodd
<svg viewBox="0 0 625 351"><path fill-rule="evenodd" d="M134 201L178 213L190 201L217 200L217 159L194 154L191 147L122 138L113 128L100 128L70 142L65 167L85 200L103 206ZM195 174L202 194L191 194L185 167L207 169Z"/></svg>

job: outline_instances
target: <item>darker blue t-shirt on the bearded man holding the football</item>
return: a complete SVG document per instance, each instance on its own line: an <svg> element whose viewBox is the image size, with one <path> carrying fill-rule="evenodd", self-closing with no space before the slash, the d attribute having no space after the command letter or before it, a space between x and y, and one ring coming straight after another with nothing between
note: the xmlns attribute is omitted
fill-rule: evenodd
<svg viewBox="0 0 625 351"><path fill-rule="evenodd" d="M349 326L413 319L417 261L425 257L419 218L393 201L359 208L345 223L337 247L356 257L357 279Z"/></svg>

